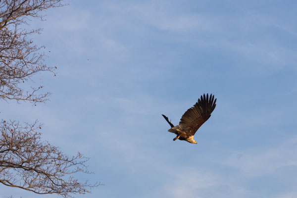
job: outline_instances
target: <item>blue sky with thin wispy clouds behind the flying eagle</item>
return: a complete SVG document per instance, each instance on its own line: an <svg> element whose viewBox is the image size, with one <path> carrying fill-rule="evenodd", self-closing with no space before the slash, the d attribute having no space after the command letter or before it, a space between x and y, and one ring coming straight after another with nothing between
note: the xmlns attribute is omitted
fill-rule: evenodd
<svg viewBox="0 0 297 198"><path fill-rule="evenodd" d="M296 1L65 2L31 22L58 68L30 82L50 101L1 101L1 116L91 158L77 177L105 185L76 197L297 197ZM198 145L173 142L161 114L178 124L203 93L217 106Z"/></svg>

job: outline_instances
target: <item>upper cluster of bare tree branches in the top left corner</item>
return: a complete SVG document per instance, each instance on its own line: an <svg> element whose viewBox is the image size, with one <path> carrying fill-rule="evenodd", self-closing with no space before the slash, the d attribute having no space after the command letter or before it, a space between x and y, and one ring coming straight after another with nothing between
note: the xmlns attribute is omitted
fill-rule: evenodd
<svg viewBox="0 0 297 198"><path fill-rule="evenodd" d="M54 70L44 63L45 54L39 53L43 47L28 40L41 29L27 31L24 25L29 17L43 19L39 12L58 6L62 6L61 0L0 0L0 99L43 102L49 96L37 94L42 86L31 90L20 86L38 72Z"/></svg>

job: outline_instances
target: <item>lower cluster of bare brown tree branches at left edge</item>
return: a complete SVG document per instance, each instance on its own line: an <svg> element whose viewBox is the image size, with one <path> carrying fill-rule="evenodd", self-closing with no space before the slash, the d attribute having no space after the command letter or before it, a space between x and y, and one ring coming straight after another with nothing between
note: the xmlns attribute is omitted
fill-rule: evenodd
<svg viewBox="0 0 297 198"><path fill-rule="evenodd" d="M59 148L41 141L41 125L21 126L14 121L0 122L0 183L32 191L37 194L89 193L97 186L80 183L73 177L77 172L90 173L81 153L69 157Z"/></svg>

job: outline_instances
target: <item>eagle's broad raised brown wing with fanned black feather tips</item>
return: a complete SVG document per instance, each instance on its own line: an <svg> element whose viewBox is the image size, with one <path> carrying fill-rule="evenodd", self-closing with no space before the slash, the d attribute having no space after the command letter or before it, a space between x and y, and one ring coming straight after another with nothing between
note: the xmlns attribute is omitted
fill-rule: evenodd
<svg viewBox="0 0 297 198"><path fill-rule="evenodd" d="M183 131L187 131L189 135L195 135L199 127L210 117L211 112L215 108L216 99L210 94L205 97L201 96L198 102L193 107L189 108L181 118L180 125L183 127Z"/></svg>

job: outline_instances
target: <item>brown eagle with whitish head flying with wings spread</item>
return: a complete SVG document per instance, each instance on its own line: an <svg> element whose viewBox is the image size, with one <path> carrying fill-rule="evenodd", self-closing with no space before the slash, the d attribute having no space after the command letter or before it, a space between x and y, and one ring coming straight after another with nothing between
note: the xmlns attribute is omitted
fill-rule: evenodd
<svg viewBox="0 0 297 198"><path fill-rule="evenodd" d="M168 124L171 126L171 129L168 131L176 134L176 137L173 141L184 140L192 144L197 144L197 142L193 139L196 131L200 128L200 126L208 120L210 114L215 108L216 99L214 96L210 94L203 94L198 102L194 104L193 107L189 108L181 118L179 125L174 126L169 120L168 117L162 114Z"/></svg>

